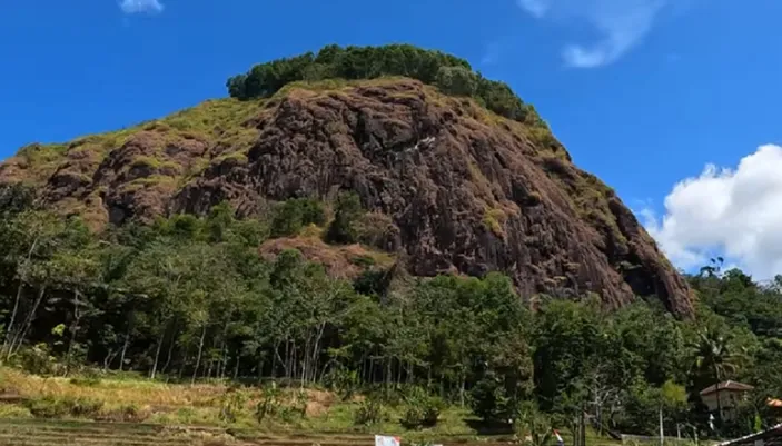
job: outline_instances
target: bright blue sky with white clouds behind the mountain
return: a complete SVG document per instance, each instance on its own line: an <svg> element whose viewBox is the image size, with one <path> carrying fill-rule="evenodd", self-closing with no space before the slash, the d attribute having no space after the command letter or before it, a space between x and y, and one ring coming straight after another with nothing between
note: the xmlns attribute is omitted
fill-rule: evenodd
<svg viewBox="0 0 782 446"><path fill-rule="evenodd" d="M755 177L782 168L782 149L759 150L782 141L780 1L8 0L2 10L0 158L222 97L226 78L255 62L331 42L409 42L464 57L534 103L680 266L726 252L758 275L782 271L772 235L782 201L780 216L773 202L742 201L782 197L771 172ZM732 241L736 231L748 239Z"/></svg>

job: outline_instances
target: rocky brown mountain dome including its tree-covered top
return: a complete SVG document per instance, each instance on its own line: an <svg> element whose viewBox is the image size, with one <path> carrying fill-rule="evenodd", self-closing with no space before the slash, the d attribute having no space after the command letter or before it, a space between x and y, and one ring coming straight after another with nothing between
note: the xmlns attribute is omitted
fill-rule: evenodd
<svg viewBox="0 0 782 446"><path fill-rule="evenodd" d="M346 80L347 79L347 80ZM615 192L576 168L534 109L457 58L408 46L256 66L234 98L0 165L93 228L228 201L357 195L373 237L416 276L503 271L522 296L612 307L656 296L677 315L692 293Z"/></svg>

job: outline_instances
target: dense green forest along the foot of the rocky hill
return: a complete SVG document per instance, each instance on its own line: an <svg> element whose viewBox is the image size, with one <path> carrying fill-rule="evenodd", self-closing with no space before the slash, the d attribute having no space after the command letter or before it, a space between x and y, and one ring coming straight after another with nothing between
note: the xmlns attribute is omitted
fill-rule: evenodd
<svg viewBox="0 0 782 446"><path fill-rule="evenodd" d="M674 433L725 436L772 422L764 403L782 396L782 279L760 285L715 261L690 277L696 318L677 320L642 299L612 311L595 296L522 298L499 274L424 279L366 261L348 281L298 251L258 255L265 239L305 225L324 227L331 244L354 241L362 212L352 196L244 220L221 205L95 235L39 208L24 187L0 189L2 361L42 375L416 388L486 422L534 410L572 426L586 413L600 428L636 434L656 432L660 408ZM714 433L697 392L729 378L756 389Z"/></svg>

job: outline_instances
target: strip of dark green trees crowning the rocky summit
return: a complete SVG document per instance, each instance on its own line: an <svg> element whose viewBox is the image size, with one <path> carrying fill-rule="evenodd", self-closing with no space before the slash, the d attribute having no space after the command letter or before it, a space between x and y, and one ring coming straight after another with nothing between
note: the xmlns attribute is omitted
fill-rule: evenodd
<svg viewBox="0 0 782 446"><path fill-rule="evenodd" d="M295 81L323 79L375 79L404 76L435 85L444 92L475 98L505 118L545 126L535 109L524 103L505 83L474 72L469 62L441 51L410 44L383 47L324 47L317 54L277 59L253 67L247 73L228 79L232 98L270 97Z"/></svg>

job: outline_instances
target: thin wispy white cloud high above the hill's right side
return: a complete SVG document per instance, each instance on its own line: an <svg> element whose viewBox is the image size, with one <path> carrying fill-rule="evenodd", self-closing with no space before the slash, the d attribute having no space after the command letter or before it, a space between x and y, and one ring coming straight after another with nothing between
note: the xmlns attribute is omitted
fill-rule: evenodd
<svg viewBox="0 0 782 446"><path fill-rule="evenodd" d="M612 63L639 44L652 30L671 0L516 0L537 19L585 21L602 38L594 43L573 43L562 50L565 63L594 68Z"/></svg>

